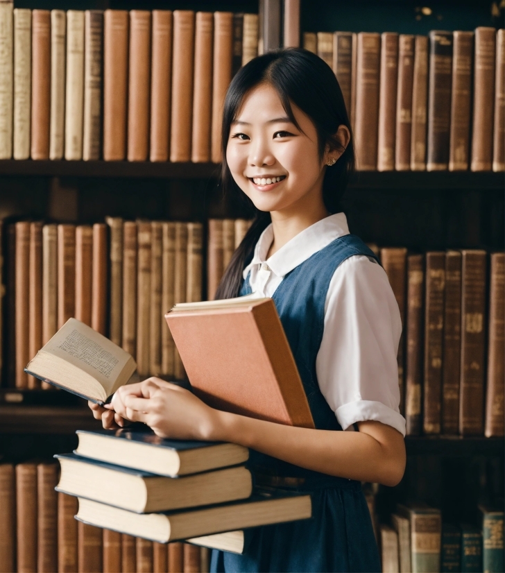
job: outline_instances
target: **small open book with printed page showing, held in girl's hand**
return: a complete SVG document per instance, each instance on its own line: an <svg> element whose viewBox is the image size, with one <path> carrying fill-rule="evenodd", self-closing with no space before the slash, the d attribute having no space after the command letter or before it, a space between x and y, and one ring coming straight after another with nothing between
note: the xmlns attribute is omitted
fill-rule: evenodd
<svg viewBox="0 0 505 573"><path fill-rule="evenodd" d="M25 372L104 404L130 380L136 368L128 352L79 320L69 318L28 362Z"/></svg>

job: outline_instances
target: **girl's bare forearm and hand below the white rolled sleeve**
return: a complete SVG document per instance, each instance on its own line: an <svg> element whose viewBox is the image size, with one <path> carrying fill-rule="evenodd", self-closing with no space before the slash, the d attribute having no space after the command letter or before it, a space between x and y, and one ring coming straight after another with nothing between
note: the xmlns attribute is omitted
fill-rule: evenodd
<svg viewBox="0 0 505 573"><path fill-rule="evenodd" d="M158 378L119 388L112 408L123 418L145 422L158 436L237 443L348 479L395 486L405 469L402 434L381 422L359 422L359 431L285 426L215 410Z"/></svg>

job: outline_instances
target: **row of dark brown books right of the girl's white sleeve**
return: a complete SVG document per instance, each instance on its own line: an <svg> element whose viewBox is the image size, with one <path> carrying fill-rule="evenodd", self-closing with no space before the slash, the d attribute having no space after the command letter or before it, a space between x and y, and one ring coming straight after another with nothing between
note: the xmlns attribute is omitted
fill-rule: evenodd
<svg viewBox="0 0 505 573"><path fill-rule="evenodd" d="M505 253L380 257L400 307L406 432L504 436Z"/></svg>

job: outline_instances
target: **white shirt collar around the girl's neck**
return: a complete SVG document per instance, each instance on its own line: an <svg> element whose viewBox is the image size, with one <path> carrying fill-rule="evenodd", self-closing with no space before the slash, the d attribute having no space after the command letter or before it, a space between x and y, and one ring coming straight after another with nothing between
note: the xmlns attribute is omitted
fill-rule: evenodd
<svg viewBox="0 0 505 573"><path fill-rule="evenodd" d="M277 250L277 253L266 259L273 241L273 228L270 224L260 235L255 246L253 260L244 268L243 277L246 278L253 267L262 263L268 264L270 270L278 277L284 277L314 253L345 234L349 234L347 217L343 213L336 213L302 230Z"/></svg>

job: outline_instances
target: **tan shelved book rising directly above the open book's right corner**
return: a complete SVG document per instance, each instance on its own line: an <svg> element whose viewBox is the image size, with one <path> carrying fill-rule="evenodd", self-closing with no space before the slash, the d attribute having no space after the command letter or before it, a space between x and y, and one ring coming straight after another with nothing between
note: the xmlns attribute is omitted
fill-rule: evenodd
<svg viewBox="0 0 505 573"><path fill-rule="evenodd" d="M137 223L123 224L123 336L122 348L137 354Z"/></svg>

